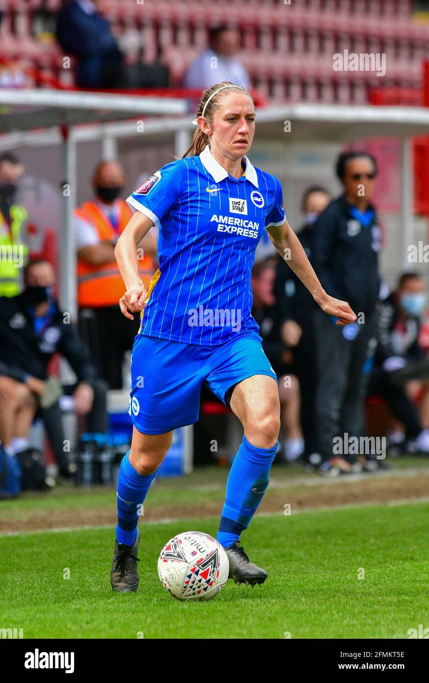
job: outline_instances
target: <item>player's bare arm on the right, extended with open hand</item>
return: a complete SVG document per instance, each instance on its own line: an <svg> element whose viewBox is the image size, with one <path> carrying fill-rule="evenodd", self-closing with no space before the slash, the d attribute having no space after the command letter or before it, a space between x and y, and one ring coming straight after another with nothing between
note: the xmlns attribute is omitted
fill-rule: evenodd
<svg viewBox="0 0 429 683"><path fill-rule="evenodd" d="M329 316L338 318L336 321L338 326L354 322L357 316L355 316L349 304L346 301L340 301L340 299L329 296L323 289L301 242L299 242L286 219L282 225L269 225L267 232L280 256L282 256L286 264L292 268L293 272L306 286L321 309L328 313Z"/></svg>

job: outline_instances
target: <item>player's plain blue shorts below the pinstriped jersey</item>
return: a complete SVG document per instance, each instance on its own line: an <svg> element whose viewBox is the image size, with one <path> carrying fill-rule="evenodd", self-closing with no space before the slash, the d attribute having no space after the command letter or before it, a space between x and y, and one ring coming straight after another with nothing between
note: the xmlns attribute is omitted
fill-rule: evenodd
<svg viewBox="0 0 429 683"><path fill-rule="evenodd" d="M219 346L137 335L128 412L139 432L164 434L198 420L203 382L225 403L226 391L252 375L268 375L277 382L256 333Z"/></svg>

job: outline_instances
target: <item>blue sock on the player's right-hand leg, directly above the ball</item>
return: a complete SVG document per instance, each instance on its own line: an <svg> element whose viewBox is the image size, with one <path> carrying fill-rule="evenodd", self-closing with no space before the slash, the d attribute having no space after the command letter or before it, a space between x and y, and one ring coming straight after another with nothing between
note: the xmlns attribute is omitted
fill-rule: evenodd
<svg viewBox="0 0 429 683"><path fill-rule="evenodd" d="M220 518L217 539L224 548L239 540L263 499L269 482L269 470L278 449L258 448L243 436L226 482L226 500Z"/></svg>

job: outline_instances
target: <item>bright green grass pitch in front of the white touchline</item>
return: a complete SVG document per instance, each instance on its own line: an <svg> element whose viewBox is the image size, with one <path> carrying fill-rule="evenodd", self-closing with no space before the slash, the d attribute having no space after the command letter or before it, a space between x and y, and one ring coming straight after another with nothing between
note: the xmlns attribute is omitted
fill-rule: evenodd
<svg viewBox="0 0 429 683"><path fill-rule="evenodd" d="M160 549L180 531L214 535L217 522L143 520L140 587L125 595L110 589L113 529L3 536L0 627L25 638L407 638L429 623L427 502L256 517L243 545L265 585L174 600Z"/></svg>

